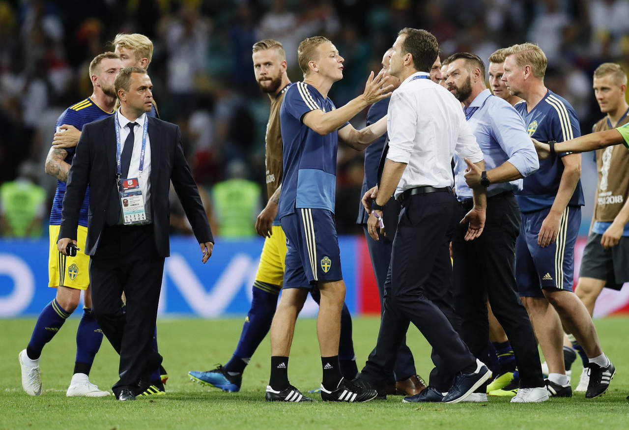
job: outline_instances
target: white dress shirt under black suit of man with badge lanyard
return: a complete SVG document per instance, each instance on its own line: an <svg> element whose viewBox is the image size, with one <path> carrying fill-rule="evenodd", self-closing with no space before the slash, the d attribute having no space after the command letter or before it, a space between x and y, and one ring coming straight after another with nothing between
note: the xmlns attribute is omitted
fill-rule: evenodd
<svg viewBox="0 0 629 430"><path fill-rule="evenodd" d="M126 137L129 135L129 128L126 124L134 122L136 125L133 127L133 152L131 153L131 162L129 164L129 174L127 178L138 178L140 184L140 190L142 190L142 197L144 199L144 207L147 211L147 216L150 218L150 211L148 208L148 198L150 197L151 184L151 141L147 133L147 146L144 151L144 168L142 175L140 175L140 155L142 154L142 132L144 130L144 121L148 121L147 114L142 114L135 121L129 121L120 113L120 109L116 112L118 115L118 123L120 124L120 156L125 150ZM121 178L125 179L125 178Z"/></svg>

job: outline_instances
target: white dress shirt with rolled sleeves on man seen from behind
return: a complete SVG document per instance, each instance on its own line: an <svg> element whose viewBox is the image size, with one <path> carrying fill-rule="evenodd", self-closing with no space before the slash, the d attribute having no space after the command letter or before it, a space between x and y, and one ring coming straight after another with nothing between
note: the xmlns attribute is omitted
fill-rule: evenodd
<svg viewBox="0 0 629 430"><path fill-rule="evenodd" d="M430 79L413 79L420 75L428 76L417 72L404 79L389 103L387 158L408 164L395 197L424 185L452 187L454 153L472 163L483 159L460 102Z"/></svg>

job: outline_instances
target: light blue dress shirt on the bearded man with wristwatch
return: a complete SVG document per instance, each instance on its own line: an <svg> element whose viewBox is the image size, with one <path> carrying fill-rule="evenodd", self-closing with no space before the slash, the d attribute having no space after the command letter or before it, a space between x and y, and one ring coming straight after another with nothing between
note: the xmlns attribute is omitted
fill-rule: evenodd
<svg viewBox="0 0 629 430"><path fill-rule="evenodd" d="M533 141L526 133L520 114L508 102L493 96L489 89L481 92L467 109L463 109L467 123L481 146L485 157L485 170L491 170L508 161L523 177L533 174L540 167ZM454 186L459 201L472 198L472 189L465 184L467 164L454 157ZM505 191L522 189L522 180L491 184L487 197Z"/></svg>

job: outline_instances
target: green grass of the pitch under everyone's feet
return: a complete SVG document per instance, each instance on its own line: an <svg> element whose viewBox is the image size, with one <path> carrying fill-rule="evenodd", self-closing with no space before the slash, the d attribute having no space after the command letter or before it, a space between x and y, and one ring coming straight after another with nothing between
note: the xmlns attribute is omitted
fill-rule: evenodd
<svg viewBox="0 0 629 430"><path fill-rule="evenodd" d="M362 367L376 341L378 320L354 320L354 343ZM610 317L596 321L606 353L618 369L612 387L601 399L551 399L543 404L509 404L491 398L487 404L402 404L401 397L365 404L278 404L264 401L269 379L269 341L265 339L245 372L242 391L224 393L201 387L186 376L189 370L209 370L225 363L235 347L242 319L162 320L158 324L160 352L170 379L167 395L116 402L114 397L87 399L65 397L72 376L75 330L71 319L43 351L43 392L26 395L20 384L17 355L25 348L35 321L0 320L0 428L6 429L381 429L381 428L571 428L621 429L629 427L629 318ZM429 348L411 326L408 342L421 375L431 363ZM289 363L291 383L305 391L318 387L321 361L315 337L315 321L298 322ZM578 359L577 359L578 360ZM105 340L92 368L91 380L108 389L117 379L118 356ZM578 361L575 364L579 377Z"/></svg>

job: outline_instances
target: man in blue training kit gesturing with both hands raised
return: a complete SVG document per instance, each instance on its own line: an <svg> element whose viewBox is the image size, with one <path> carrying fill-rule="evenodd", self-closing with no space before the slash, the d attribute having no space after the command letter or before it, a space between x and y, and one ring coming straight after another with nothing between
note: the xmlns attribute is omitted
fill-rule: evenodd
<svg viewBox="0 0 629 430"><path fill-rule="evenodd" d="M334 82L343 78L343 57L330 40L315 36L298 49L303 82L286 91L280 109L284 145L279 213L287 238L284 290L271 326L271 372L266 399L311 401L288 380L288 356L295 321L314 286L321 294L317 334L321 349L321 398L340 402L374 399L375 390L357 387L342 377L338 342L345 284L334 223L338 140L357 150L386 131L386 118L355 130L347 121L370 104L388 97L382 72L370 74L364 93L336 109L328 98Z"/></svg>

